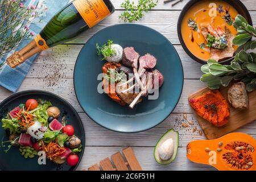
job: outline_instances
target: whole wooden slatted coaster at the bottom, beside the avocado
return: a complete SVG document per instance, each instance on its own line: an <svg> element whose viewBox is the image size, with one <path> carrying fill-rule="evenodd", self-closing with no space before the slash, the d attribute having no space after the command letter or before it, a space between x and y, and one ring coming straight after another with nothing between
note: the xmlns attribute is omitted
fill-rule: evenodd
<svg viewBox="0 0 256 182"><path fill-rule="evenodd" d="M117 152L111 156L113 164L109 158L101 160L100 167L97 164L94 164L92 167L89 167L89 171L142 171L141 165L139 164L133 149L127 147L123 150L123 158L121 152ZM126 162L127 161L127 162Z"/></svg>

